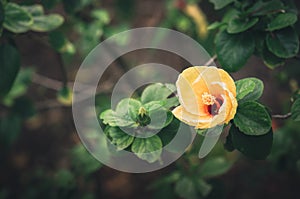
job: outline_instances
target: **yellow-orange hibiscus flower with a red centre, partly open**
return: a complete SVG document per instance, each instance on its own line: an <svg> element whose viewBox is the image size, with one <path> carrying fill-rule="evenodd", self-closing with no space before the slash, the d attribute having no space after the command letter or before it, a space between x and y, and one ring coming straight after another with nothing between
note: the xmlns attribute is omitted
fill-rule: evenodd
<svg viewBox="0 0 300 199"><path fill-rule="evenodd" d="M196 129L227 124L236 109L236 87L230 75L213 66L185 69L176 82L180 106L172 112Z"/></svg>

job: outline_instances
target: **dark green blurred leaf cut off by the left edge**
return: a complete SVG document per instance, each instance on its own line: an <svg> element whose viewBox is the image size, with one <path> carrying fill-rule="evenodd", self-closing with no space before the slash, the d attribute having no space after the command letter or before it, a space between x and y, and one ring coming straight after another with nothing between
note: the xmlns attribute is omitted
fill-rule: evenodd
<svg viewBox="0 0 300 199"><path fill-rule="evenodd" d="M19 69L18 50L9 44L0 45L0 98L10 91Z"/></svg>

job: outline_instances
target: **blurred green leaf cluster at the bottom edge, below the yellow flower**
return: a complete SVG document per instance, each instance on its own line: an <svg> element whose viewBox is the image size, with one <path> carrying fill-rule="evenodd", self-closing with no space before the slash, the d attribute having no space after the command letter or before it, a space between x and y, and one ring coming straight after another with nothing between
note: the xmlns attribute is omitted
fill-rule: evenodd
<svg viewBox="0 0 300 199"><path fill-rule="evenodd" d="M201 143L201 140L197 139L196 143L198 142ZM213 180L228 172L235 159L223 150L221 143L217 144L213 152L203 160L195 157L195 150L197 149L194 147L190 149L178 161L175 171L155 181L149 189L157 189L157 193L164 198L174 198L173 192L186 199L213 198L216 189ZM186 164L189 165L188 168L185 168ZM171 190L163 192L169 189Z"/></svg>

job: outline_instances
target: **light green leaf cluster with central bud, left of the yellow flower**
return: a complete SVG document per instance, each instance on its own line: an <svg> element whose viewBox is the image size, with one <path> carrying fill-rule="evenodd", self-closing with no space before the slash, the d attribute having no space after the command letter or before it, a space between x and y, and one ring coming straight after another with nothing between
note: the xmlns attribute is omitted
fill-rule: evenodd
<svg viewBox="0 0 300 199"><path fill-rule="evenodd" d="M100 114L100 119L107 125L105 133L118 150L130 148L150 163L159 160L163 141L154 134L157 129L160 135L164 131L168 133L172 125L173 115L169 108L178 105L177 98L169 97L173 92L173 85L152 84L145 88L139 99L125 98L117 104L115 111L109 109ZM146 137L135 137L139 134Z"/></svg>

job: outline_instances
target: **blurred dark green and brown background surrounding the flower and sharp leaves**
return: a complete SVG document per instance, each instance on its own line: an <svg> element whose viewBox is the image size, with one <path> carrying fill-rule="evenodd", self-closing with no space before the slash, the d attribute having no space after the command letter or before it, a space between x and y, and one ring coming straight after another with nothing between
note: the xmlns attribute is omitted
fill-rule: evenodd
<svg viewBox="0 0 300 199"><path fill-rule="evenodd" d="M158 26L189 35L213 57L216 31L207 30L207 26L222 19L223 11L214 10L211 2L13 2L41 4L45 13L63 16L64 23L47 33L29 31L12 36L20 52L21 69L8 97L0 105L0 199L279 199L299 196L300 123L289 119L273 120L273 149L267 160L255 161L236 151L225 152L222 138L204 160L198 159L192 154L193 149L189 149L170 166L145 174L124 173L102 165L80 142L70 103L72 84L85 56L105 38L118 32ZM185 9L187 4L194 9ZM296 4L299 8L298 1ZM4 31L5 34L9 33ZM119 42L126 43L126 38ZM149 62L172 66L178 71L190 66L181 57L165 51L130 52L112 63L99 82L97 109L101 112L109 108L110 92L122 74ZM235 80L262 79L265 85L262 102L274 114L287 113L290 95L299 89L299 60L290 60L270 70L260 58L252 56L246 66L232 76ZM205 169L208 174L201 175Z"/></svg>

